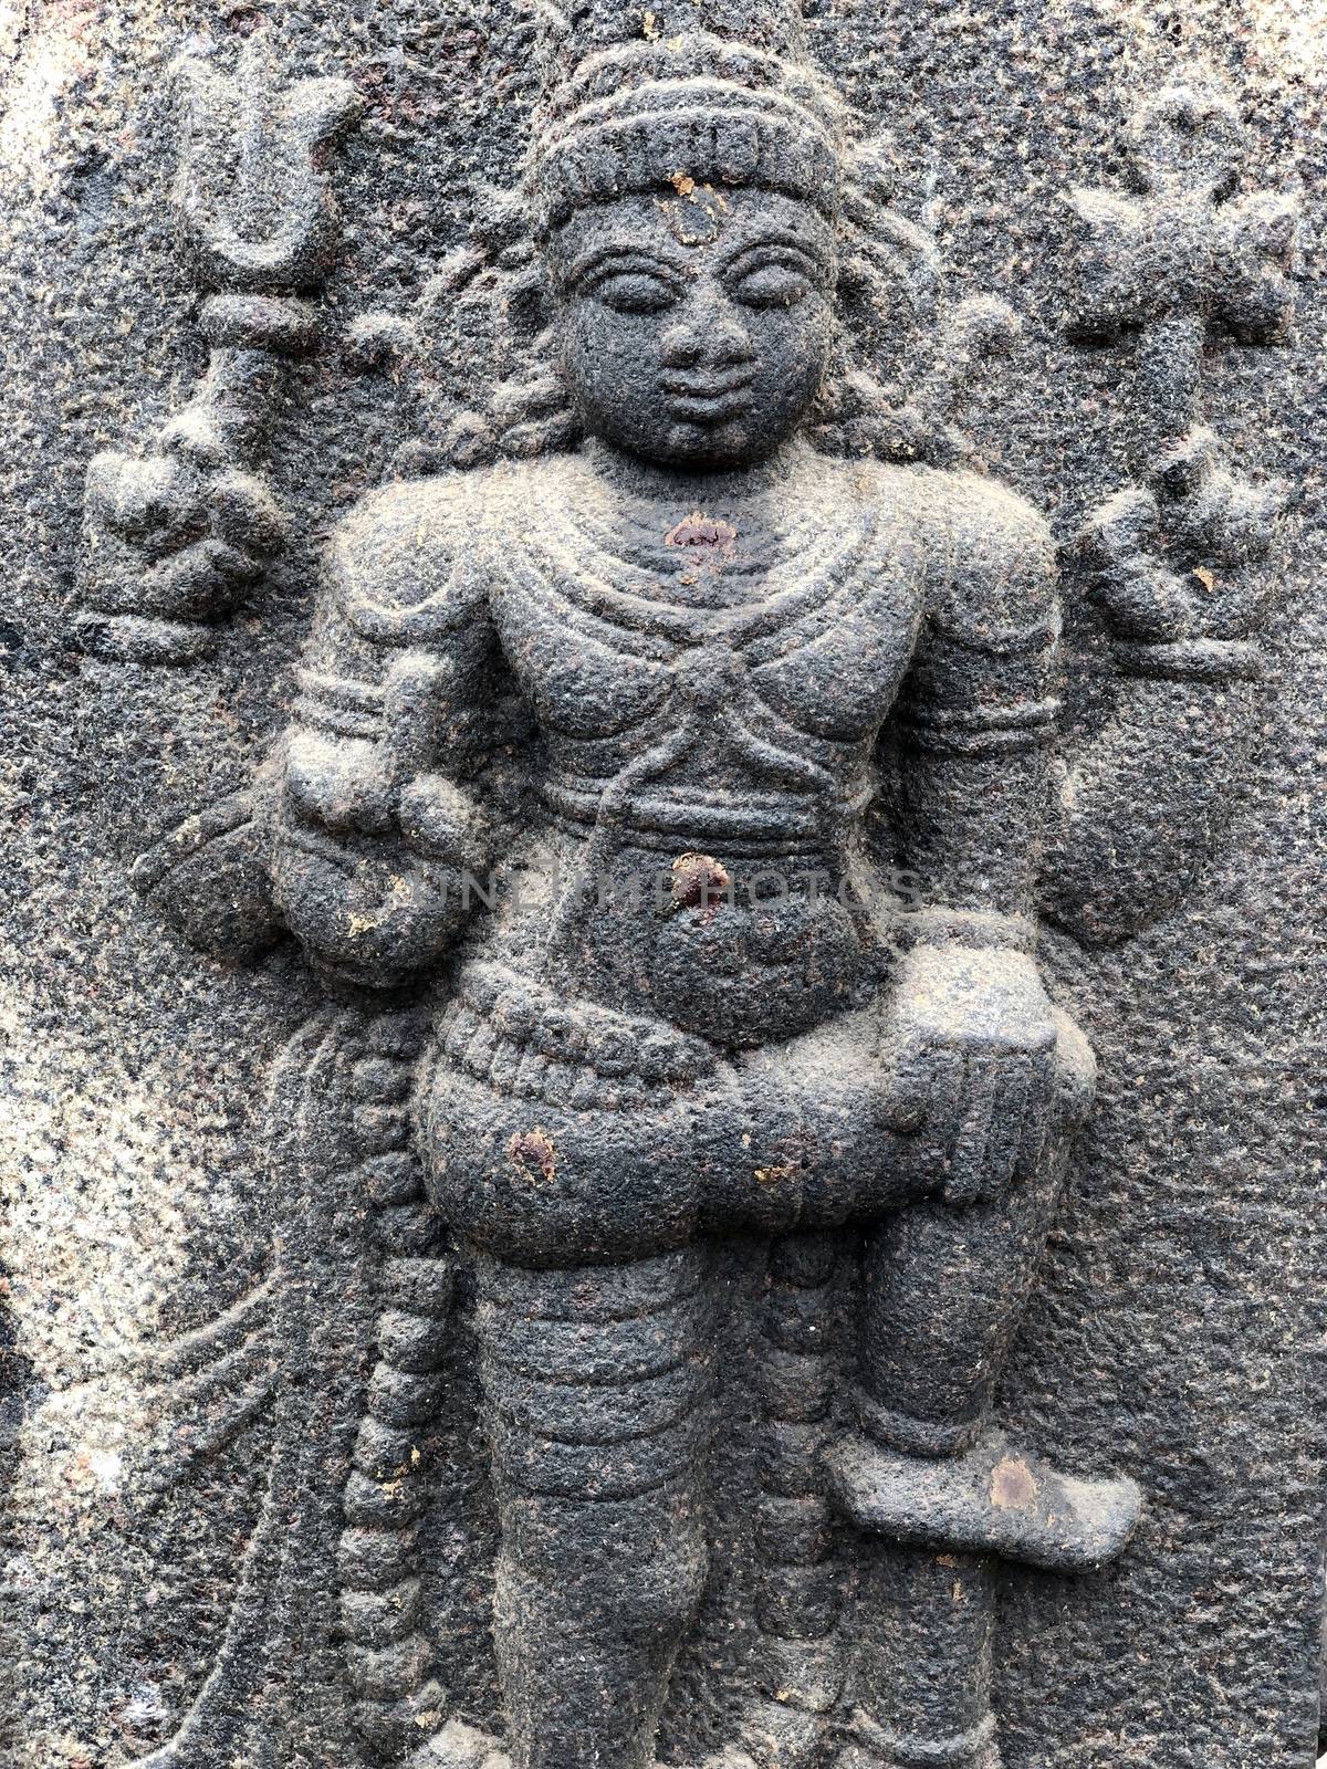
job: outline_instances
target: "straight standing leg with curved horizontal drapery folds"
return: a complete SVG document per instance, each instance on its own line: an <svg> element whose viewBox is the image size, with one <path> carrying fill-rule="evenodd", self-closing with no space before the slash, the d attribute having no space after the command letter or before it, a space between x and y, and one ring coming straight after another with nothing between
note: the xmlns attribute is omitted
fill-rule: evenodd
<svg viewBox="0 0 1327 1769"><path fill-rule="evenodd" d="M517 1769L646 1769L706 1578L702 1254L479 1263L502 1551L495 1631Z"/></svg>

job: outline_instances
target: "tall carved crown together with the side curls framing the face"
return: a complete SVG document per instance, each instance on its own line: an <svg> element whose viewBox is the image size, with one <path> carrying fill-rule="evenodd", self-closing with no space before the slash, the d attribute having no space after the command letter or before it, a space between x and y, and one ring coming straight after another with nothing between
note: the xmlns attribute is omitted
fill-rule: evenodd
<svg viewBox="0 0 1327 1769"><path fill-rule="evenodd" d="M1012 317L984 299L941 313L934 241L892 207L892 143L855 127L810 60L800 0L536 0L536 51L520 189L481 205L414 329L419 437L403 471L575 444L540 242L579 207L667 186L777 189L833 223L842 325L810 425L819 448L936 463L966 453L957 394L1007 345Z"/></svg>

